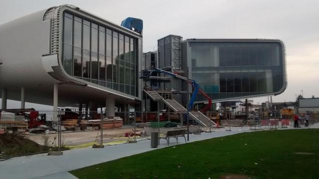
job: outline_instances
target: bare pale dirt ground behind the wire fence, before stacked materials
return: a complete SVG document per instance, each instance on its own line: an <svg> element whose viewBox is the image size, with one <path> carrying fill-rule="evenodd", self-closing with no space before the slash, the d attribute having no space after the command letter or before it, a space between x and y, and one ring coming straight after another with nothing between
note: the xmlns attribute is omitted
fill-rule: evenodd
<svg viewBox="0 0 319 179"><path fill-rule="evenodd" d="M112 142L118 140L129 140L125 137L126 132L133 132L134 127L110 128L103 130L103 142ZM136 128L136 133L140 133L143 128ZM28 134L23 135L25 138L35 141L43 145L44 136L48 137L49 146L56 146L58 141L58 133L49 134ZM86 130L86 131L65 131L61 133L61 143L65 146L92 145L94 142L99 143L101 138L101 130Z"/></svg>

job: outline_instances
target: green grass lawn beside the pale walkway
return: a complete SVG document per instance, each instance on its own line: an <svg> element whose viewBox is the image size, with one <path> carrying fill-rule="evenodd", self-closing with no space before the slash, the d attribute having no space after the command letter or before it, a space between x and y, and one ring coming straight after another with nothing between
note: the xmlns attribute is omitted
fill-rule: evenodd
<svg viewBox="0 0 319 179"><path fill-rule="evenodd" d="M301 154L300 154L301 153ZM319 179L319 129L236 134L70 172L79 179Z"/></svg>

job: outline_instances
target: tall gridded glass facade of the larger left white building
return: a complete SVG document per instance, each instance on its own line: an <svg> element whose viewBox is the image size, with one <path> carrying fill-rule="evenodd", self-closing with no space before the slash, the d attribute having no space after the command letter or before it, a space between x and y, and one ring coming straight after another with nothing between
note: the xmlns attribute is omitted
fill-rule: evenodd
<svg viewBox="0 0 319 179"><path fill-rule="evenodd" d="M65 13L63 19L64 70L85 81L136 95L135 39L71 13Z"/></svg>

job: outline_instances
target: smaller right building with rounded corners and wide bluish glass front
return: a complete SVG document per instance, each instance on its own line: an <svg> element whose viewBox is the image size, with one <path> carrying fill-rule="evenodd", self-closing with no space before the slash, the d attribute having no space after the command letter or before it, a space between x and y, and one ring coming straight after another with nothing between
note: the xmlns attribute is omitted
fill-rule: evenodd
<svg viewBox="0 0 319 179"><path fill-rule="evenodd" d="M213 99L277 95L287 86L285 46L280 40L188 39L183 69ZM197 102L204 102L197 94Z"/></svg>

